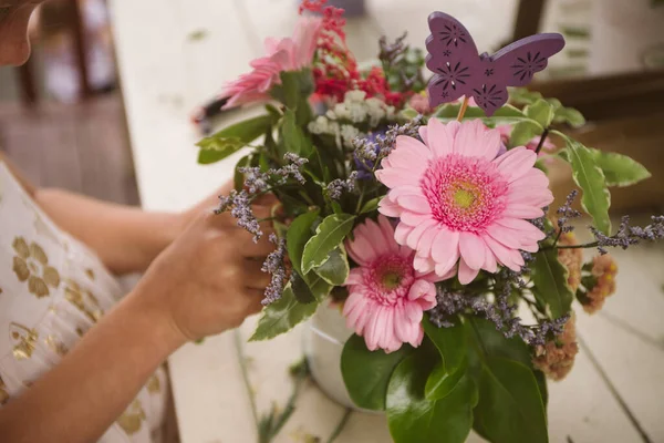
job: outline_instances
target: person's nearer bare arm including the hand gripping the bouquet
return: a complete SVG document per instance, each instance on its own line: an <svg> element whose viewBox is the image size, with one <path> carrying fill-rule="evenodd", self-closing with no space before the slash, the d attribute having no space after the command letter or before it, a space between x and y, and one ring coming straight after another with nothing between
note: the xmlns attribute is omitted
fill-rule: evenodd
<svg viewBox="0 0 664 443"><path fill-rule="evenodd" d="M272 203L256 215L269 216ZM170 352L260 310L272 248L229 214L198 215L60 364L0 409L2 443L96 441Z"/></svg>

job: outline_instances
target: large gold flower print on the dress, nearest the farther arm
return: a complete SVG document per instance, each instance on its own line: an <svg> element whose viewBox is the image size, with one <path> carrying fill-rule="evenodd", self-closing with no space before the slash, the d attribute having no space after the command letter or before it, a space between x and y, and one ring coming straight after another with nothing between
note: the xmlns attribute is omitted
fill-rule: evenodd
<svg viewBox="0 0 664 443"><path fill-rule="evenodd" d="M49 287L60 286L58 269L49 266L49 257L37 243L30 245L23 237L15 237L12 247L17 255L13 257L12 270L19 281L28 281L28 290L37 298L51 293Z"/></svg>

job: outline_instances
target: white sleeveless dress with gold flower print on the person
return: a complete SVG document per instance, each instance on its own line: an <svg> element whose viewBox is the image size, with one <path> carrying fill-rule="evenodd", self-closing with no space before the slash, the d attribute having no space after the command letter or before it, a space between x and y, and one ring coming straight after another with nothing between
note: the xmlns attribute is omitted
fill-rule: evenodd
<svg viewBox="0 0 664 443"><path fill-rule="evenodd" d="M0 161L0 408L58 364L123 295L94 253L55 226ZM160 369L100 442L159 441L166 390Z"/></svg>

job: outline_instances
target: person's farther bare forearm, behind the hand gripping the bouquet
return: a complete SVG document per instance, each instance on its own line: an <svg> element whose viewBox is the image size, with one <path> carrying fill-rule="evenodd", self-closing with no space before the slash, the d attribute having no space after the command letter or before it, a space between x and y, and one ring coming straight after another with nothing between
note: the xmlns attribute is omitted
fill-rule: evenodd
<svg viewBox="0 0 664 443"><path fill-rule="evenodd" d="M180 215L146 213L68 190L37 189L34 199L115 274L144 271L183 229Z"/></svg>

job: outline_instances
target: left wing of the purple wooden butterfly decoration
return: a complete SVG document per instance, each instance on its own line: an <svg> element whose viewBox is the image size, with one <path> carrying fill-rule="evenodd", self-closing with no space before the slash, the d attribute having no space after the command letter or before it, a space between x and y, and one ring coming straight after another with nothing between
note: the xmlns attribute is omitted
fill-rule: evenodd
<svg viewBox="0 0 664 443"><path fill-rule="evenodd" d="M426 66L434 76L427 90L429 105L435 107L470 95L481 66L477 47L459 21L446 13L433 12L428 23L432 33L426 39Z"/></svg>

